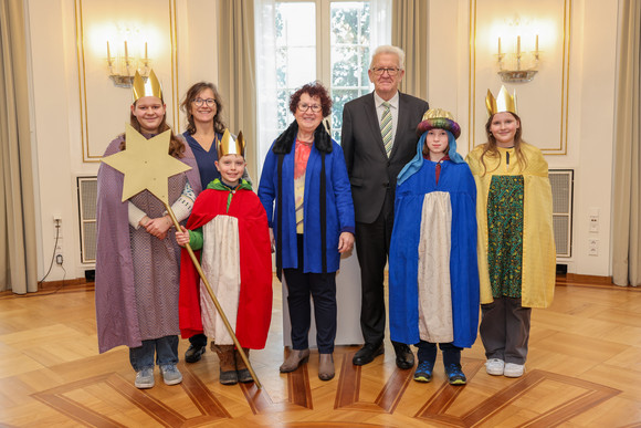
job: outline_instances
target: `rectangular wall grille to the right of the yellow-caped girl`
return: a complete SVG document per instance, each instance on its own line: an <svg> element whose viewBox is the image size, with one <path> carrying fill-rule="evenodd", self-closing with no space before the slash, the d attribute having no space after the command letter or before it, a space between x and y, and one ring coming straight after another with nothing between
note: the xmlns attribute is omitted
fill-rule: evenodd
<svg viewBox="0 0 641 428"><path fill-rule="evenodd" d="M554 241L557 257L572 254L572 169L550 169Z"/></svg>

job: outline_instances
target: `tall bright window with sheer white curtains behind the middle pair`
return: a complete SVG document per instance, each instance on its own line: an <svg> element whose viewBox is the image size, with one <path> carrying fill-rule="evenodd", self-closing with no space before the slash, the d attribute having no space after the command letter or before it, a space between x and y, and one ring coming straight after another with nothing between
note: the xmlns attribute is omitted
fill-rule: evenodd
<svg viewBox="0 0 641 428"><path fill-rule="evenodd" d="M389 2L255 0L259 167L294 119L290 95L315 80L330 92L332 137L340 140L343 106L372 90L370 52L390 43Z"/></svg>

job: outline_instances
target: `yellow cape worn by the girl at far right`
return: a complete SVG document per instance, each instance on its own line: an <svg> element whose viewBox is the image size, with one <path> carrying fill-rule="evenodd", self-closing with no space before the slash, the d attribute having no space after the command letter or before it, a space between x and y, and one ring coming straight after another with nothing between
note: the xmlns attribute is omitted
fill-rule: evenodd
<svg viewBox="0 0 641 428"><path fill-rule="evenodd" d="M492 286L487 269L487 195L492 177L495 175L517 176L524 179L523 218L523 272L522 305L525 307L547 307L554 297L556 281L556 249L551 220L551 187L547 176L547 161L540 150L522 143L521 152L527 160L522 165L516 160L514 148L498 147L500 157L484 157L483 146L475 147L467 155L467 164L476 181L476 221L479 223L479 275L481 280L481 303L492 303ZM509 166L506 164L509 153Z"/></svg>

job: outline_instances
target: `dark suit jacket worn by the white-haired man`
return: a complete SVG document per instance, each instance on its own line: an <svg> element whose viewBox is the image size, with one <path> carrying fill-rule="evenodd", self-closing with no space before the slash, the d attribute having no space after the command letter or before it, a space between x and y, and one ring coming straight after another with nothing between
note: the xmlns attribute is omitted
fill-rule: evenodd
<svg viewBox="0 0 641 428"><path fill-rule="evenodd" d="M425 101L399 92L398 124L388 158L374 93L345 104L340 146L351 182L356 221L371 223L377 219L388 188L393 201L397 176L417 154L417 126L428 108Z"/></svg>

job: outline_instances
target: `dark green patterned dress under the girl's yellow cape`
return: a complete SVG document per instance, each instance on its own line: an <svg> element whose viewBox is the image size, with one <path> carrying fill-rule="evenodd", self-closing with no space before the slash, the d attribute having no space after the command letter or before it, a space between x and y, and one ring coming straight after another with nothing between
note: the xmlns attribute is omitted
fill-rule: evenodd
<svg viewBox="0 0 641 428"><path fill-rule="evenodd" d="M487 195L487 263L494 299L521 297L523 176L493 176Z"/></svg>

